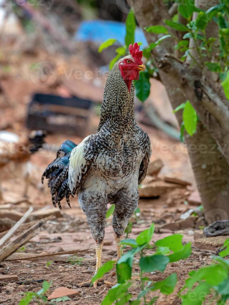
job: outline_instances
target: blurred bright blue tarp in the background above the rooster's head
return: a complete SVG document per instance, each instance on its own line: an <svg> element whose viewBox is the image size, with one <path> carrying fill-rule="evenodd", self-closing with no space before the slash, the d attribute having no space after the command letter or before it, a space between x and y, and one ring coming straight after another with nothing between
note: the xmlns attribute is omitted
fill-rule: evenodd
<svg viewBox="0 0 229 305"><path fill-rule="evenodd" d="M108 38L116 39L121 45L125 45L126 26L125 23L109 20L89 20L81 22L74 39L83 41L94 41L102 43ZM136 27L135 42L142 42L147 45L142 29Z"/></svg>

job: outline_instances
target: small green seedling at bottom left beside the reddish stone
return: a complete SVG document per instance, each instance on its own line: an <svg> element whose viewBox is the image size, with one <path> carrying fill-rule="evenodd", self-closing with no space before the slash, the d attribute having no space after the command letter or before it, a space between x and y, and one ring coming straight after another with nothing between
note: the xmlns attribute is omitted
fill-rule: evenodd
<svg viewBox="0 0 229 305"><path fill-rule="evenodd" d="M37 304L40 304L41 302L46 302L46 304L54 304L52 302L47 302L47 297L45 296L45 292L50 288L51 285L52 285L52 281L50 283L44 281L41 290L39 290L38 292L28 291L23 293L25 297L21 299L19 305L27 305L32 300L36 301Z"/></svg>

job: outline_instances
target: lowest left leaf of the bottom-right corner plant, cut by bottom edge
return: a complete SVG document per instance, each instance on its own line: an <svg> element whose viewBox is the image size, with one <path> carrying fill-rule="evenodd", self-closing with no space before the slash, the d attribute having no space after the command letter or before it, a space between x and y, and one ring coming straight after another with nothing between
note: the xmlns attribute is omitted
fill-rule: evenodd
<svg viewBox="0 0 229 305"><path fill-rule="evenodd" d="M201 282L195 289L181 295L183 299L182 305L202 305L202 302L210 292L211 286L205 282ZM194 296L194 297L193 297Z"/></svg>

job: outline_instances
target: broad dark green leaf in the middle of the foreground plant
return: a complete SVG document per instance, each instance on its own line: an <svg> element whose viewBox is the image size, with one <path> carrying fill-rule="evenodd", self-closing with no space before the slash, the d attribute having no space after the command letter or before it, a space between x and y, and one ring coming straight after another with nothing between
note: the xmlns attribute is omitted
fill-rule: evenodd
<svg viewBox="0 0 229 305"><path fill-rule="evenodd" d="M159 270L164 272L169 258L164 255L142 256L139 262L142 272L153 272Z"/></svg>

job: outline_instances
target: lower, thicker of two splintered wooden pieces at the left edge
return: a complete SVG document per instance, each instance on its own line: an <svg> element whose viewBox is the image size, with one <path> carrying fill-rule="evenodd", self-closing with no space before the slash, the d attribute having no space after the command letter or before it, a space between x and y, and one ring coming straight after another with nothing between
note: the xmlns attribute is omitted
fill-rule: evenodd
<svg viewBox="0 0 229 305"><path fill-rule="evenodd" d="M37 234L37 229L41 228L41 226L47 221L47 218L39 220L36 224L34 224L31 228L24 231L21 235L19 235L15 240L9 242L6 246L4 246L0 250L0 262L15 252L18 248L28 242L32 237Z"/></svg>

